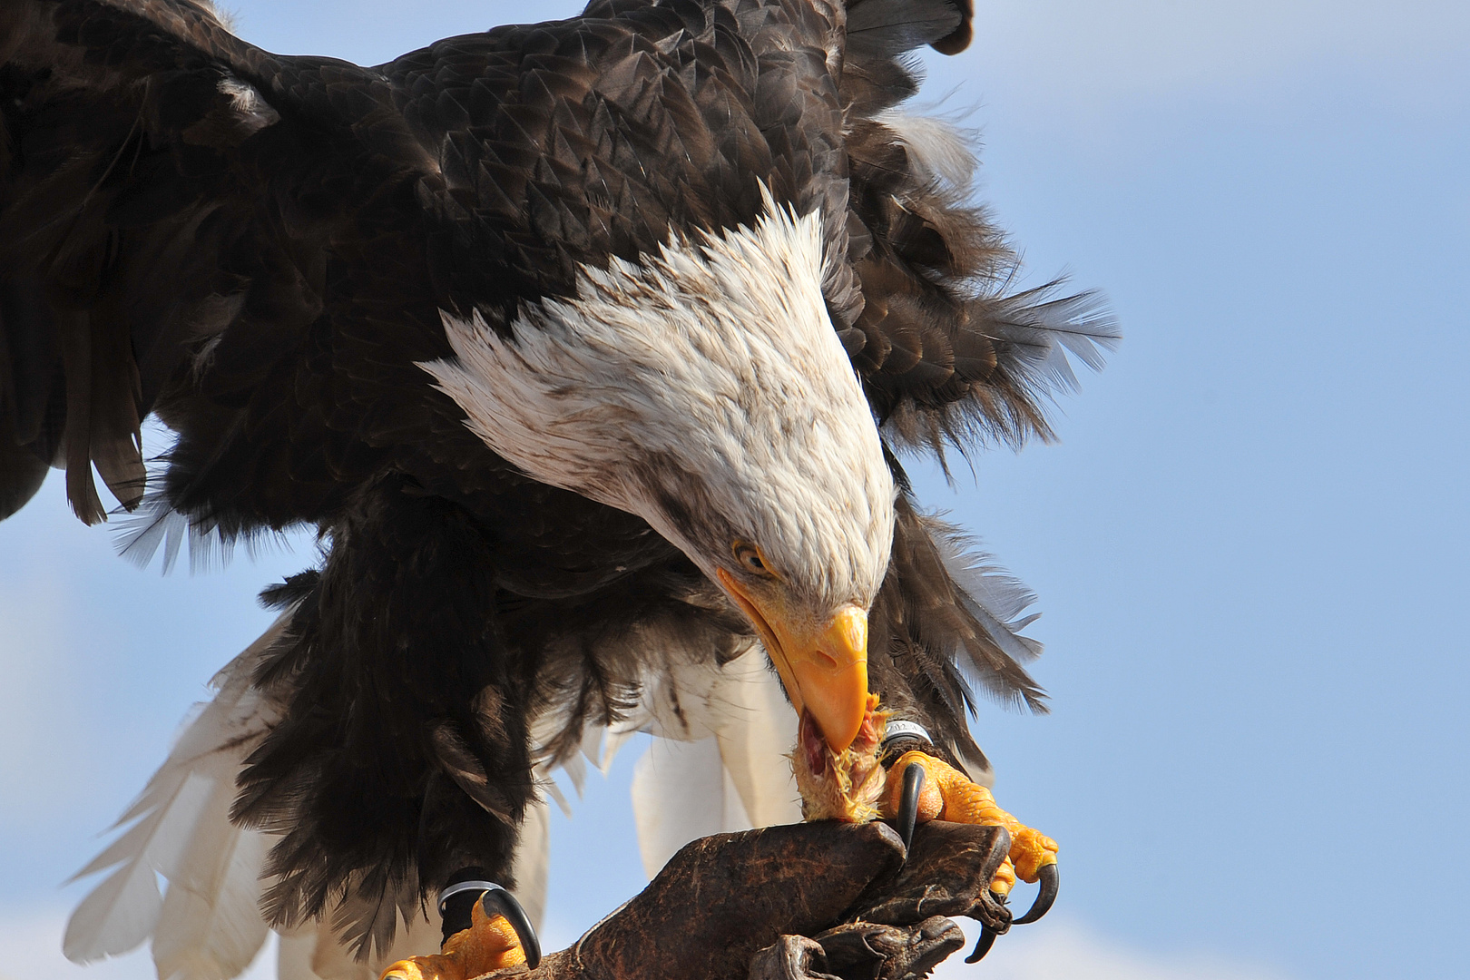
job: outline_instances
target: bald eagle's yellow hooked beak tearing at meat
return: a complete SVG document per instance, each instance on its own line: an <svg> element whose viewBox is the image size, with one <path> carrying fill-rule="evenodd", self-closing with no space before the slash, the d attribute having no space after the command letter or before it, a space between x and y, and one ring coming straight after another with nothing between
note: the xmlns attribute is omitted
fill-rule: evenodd
<svg viewBox="0 0 1470 980"><path fill-rule="evenodd" d="M797 716L808 711L828 748L841 755L867 708L867 613L844 605L832 619L813 621L788 608L779 585L756 589L725 569L717 573L760 633Z"/></svg>

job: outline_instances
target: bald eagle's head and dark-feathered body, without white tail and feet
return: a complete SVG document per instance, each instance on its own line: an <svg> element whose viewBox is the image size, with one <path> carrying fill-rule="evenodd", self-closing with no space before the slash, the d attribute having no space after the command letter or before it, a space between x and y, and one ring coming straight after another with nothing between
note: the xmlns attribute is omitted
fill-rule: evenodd
<svg viewBox="0 0 1470 980"><path fill-rule="evenodd" d="M96 469L144 561L323 542L225 679L270 923L368 956L460 870L510 883L538 767L678 738L757 648L819 779L875 717L983 779L970 685L1042 707L900 463L1048 436L1116 336L1007 291L970 148L901 109L970 22L592 0L363 68L204 0L0 9L0 516L54 466L103 520Z"/></svg>

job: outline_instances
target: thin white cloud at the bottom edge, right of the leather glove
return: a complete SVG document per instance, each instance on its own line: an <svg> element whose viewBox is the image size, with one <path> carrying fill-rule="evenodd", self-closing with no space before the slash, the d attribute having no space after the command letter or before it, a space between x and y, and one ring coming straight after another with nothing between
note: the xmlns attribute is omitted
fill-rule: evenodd
<svg viewBox="0 0 1470 980"><path fill-rule="evenodd" d="M961 923L969 946L933 971L933 980L1286 980L1286 974L1260 964L1236 962L1220 955L1155 954L1108 939L1067 920L1020 926L1001 936L982 967L964 964L979 934L975 923Z"/></svg>

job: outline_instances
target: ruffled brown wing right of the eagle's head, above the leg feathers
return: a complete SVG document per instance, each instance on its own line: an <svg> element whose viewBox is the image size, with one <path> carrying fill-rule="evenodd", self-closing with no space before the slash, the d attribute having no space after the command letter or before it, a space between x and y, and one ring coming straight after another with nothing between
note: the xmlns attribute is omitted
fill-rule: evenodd
<svg viewBox="0 0 1470 980"><path fill-rule="evenodd" d="M1098 347L1117 341L1092 294L1066 297L1060 284L1008 291L1019 260L973 204L973 151L935 120L903 125L898 106L919 85L907 53L963 50L970 16L954 0L858 0L842 65L850 256L864 300L842 341L885 435L941 458L945 445L1050 438L1045 400L1075 386L1063 351L1097 367ZM942 157L958 166L935 166Z"/></svg>

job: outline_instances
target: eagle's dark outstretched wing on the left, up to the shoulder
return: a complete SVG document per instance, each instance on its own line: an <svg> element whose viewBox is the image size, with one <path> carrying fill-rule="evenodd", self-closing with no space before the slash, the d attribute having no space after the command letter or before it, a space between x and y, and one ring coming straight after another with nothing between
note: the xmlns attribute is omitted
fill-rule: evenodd
<svg viewBox="0 0 1470 980"><path fill-rule="evenodd" d="M93 466L135 507L150 411L166 508L226 536L320 520L394 447L488 457L413 364L448 354L442 181L382 73L203 0L18 0L0 66L0 516L47 464L82 520Z"/></svg>

